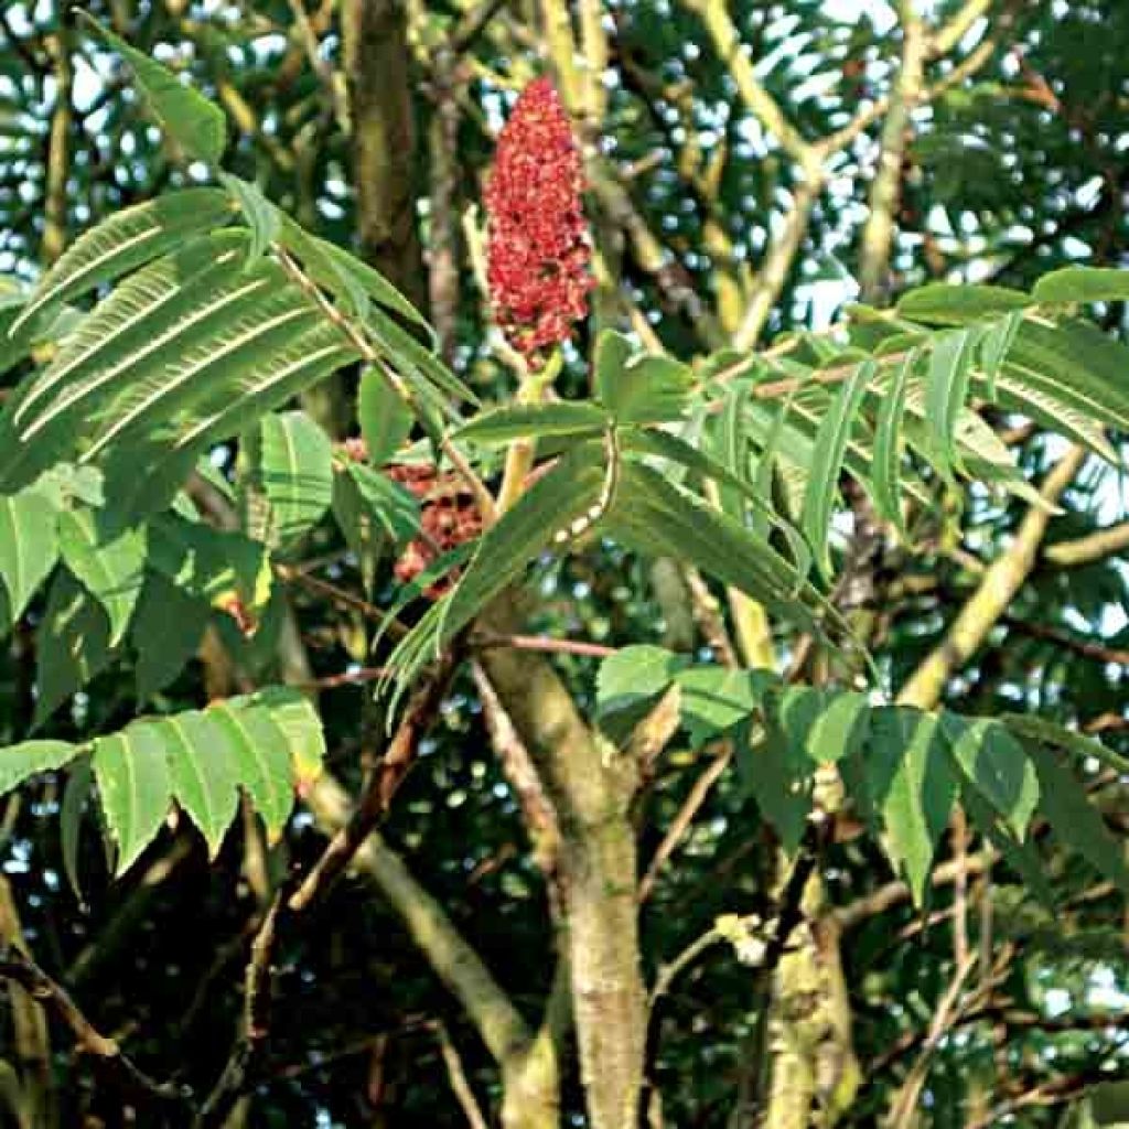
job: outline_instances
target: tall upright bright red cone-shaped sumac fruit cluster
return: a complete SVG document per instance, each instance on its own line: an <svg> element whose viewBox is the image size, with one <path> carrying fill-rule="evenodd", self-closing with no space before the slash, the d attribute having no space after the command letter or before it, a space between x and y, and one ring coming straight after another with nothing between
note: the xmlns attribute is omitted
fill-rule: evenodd
<svg viewBox="0 0 1129 1129"><path fill-rule="evenodd" d="M485 191L488 281L506 340L534 368L587 313L592 247L580 202L580 154L552 82L517 99Z"/></svg>

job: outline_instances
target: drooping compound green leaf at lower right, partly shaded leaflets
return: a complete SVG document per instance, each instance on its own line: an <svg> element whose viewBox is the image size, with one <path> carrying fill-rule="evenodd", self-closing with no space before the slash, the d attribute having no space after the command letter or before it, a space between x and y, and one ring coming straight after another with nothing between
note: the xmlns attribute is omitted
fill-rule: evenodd
<svg viewBox="0 0 1129 1129"><path fill-rule="evenodd" d="M1018 873L1031 870L1024 838L1036 813L1111 881L1122 885L1129 873L1082 786L1047 744L1101 760L1110 751L1039 719L874 706L851 691L786 685L765 671L691 666L654 646L625 647L605 659L596 684L601 725L618 741L676 686L691 744L738 742L743 778L791 848L817 769L843 762L848 800L872 820L918 903L959 796Z"/></svg>

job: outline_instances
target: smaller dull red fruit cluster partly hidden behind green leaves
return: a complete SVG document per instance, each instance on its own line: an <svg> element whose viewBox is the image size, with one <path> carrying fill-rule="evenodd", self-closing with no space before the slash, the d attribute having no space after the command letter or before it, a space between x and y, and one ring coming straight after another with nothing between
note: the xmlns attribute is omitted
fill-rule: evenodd
<svg viewBox="0 0 1129 1129"><path fill-rule="evenodd" d="M410 584L439 557L482 533L482 515L474 497L457 474L440 474L432 464L393 463L388 478L410 490L421 502L423 535L409 542L396 561L396 579ZM439 599L454 587L458 571L448 572L423 594Z"/></svg>

